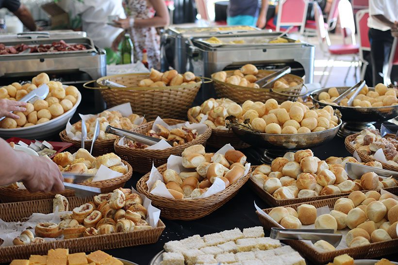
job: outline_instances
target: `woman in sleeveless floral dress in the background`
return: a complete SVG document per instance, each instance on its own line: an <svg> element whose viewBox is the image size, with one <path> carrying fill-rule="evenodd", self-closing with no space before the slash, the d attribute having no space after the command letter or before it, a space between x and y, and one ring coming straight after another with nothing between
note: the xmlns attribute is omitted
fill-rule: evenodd
<svg viewBox="0 0 398 265"><path fill-rule="evenodd" d="M156 27L164 27L169 23L169 15L164 0L126 0L128 17L115 21L118 27L130 32L134 45L134 58L142 60L142 50L148 54L149 68L160 69L160 38ZM155 15L156 14L156 15ZM120 33L112 47L117 50L124 37Z"/></svg>

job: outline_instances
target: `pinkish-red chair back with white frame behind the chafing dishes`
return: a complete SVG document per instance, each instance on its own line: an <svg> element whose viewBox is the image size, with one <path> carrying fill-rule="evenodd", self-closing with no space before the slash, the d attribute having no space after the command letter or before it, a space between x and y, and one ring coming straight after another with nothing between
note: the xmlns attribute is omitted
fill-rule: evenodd
<svg viewBox="0 0 398 265"><path fill-rule="evenodd" d="M281 26L300 26L303 33L307 9L308 0L279 0L276 31L280 31Z"/></svg>

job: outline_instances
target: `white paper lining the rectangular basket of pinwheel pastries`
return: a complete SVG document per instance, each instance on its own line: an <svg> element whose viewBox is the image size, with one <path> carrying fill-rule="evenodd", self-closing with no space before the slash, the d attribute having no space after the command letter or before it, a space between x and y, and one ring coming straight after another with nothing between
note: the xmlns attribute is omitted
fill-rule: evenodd
<svg viewBox="0 0 398 265"><path fill-rule="evenodd" d="M144 194L139 193L133 187L131 187L132 193L138 194L143 202L143 206L148 210L147 219L146 221L148 224L156 228L158 226L159 218L160 218L160 209L156 208L152 205L152 201L148 199ZM62 212L62 213L69 213ZM14 238L18 237L22 231L30 230L34 234L34 227L37 223L40 222L51 222L55 224L59 224L61 222L61 218L59 217L58 213L58 206L55 209L54 213L50 214L41 214L41 213L33 213L27 221L24 222L5 222L0 219L0 239L4 240L4 242L0 245L0 247L8 247L14 246L13 240ZM64 236L60 236L58 238L44 238L46 241L53 241L57 239L63 239Z"/></svg>

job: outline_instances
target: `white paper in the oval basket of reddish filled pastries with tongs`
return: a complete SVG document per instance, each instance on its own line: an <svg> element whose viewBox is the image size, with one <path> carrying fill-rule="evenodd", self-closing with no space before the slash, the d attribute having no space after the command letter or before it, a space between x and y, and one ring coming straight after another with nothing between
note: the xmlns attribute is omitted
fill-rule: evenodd
<svg viewBox="0 0 398 265"><path fill-rule="evenodd" d="M152 130L154 130L157 133L160 131L160 129L156 126L157 124L166 127L168 130L175 129L175 128L181 128L182 126L185 126L189 129L197 130L198 136L203 134L207 129L207 125L205 125L205 124L190 124L189 122L185 122L185 123L181 123L181 124L177 124L177 125L168 125L162 118L160 118L158 116L152 125ZM127 144L124 143L124 137L120 138L120 140L117 142L117 144L120 146L129 147ZM164 149L171 148L171 147L172 146L166 140L162 139L158 143L155 143L154 145L151 145L144 149L164 150Z"/></svg>

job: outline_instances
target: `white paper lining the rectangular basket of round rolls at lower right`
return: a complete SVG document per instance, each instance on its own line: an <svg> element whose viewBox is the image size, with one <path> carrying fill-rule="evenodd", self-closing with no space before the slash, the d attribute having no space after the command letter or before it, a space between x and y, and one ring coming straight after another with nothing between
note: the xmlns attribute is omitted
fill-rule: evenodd
<svg viewBox="0 0 398 265"><path fill-rule="evenodd" d="M380 193L381 193L381 194L389 193L389 194L391 194L391 195L394 196L394 197L393 197L394 199L398 200L398 196L396 196L396 195L392 194L391 192L388 192L388 191L386 191L386 190L384 190L384 189L381 189L381 190L380 190ZM256 205L255 202L254 202L254 207L255 207L256 210L257 210L262 216L264 216L267 220L269 220L269 221L271 221L271 222L275 222L275 220L272 219L268 214L266 214L262 209L260 209L260 208ZM333 210L333 209L330 209L329 206L323 206L323 207L320 207L320 208L316 208L316 216L318 217L318 216L320 216L320 215L329 214L332 210ZM283 226L280 225L280 224L278 224L278 227L283 228ZM311 224L311 225L302 225L302 226L301 226L301 229L315 229L315 224ZM337 230L337 232L335 233L335 234L342 234L342 235L343 235L343 237L342 237L342 239L341 239L339 245L336 247L337 250L338 250L338 249L346 249L346 248L348 248L348 245L347 245L347 242L346 242L346 235L347 235L347 233L348 233L349 231L350 231L350 229L347 227L347 228L342 229L342 230ZM397 232L398 232L398 229L397 229ZM310 247L312 247L313 249L317 249L317 248L314 246L314 244L313 244L310 240L301 240L301 241L305 242L306 244L308 244L308 245L309 245ZM320 251L319 249L317 249L317 250Z"/></svg>

